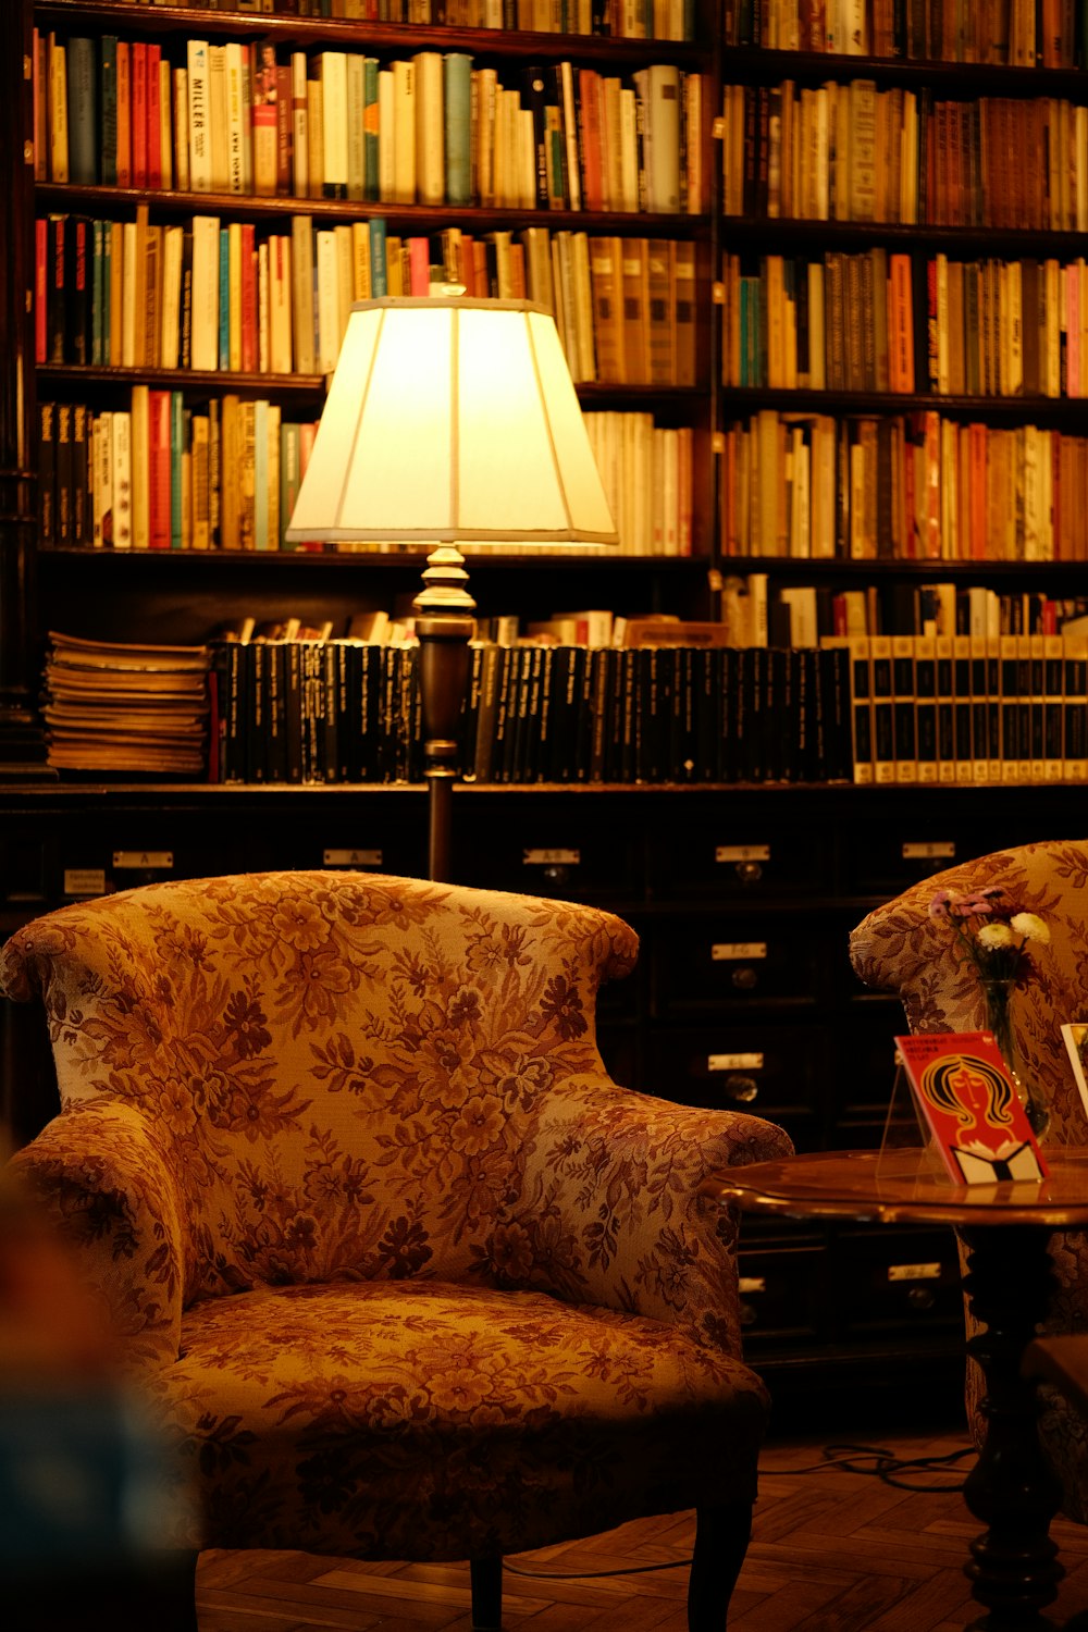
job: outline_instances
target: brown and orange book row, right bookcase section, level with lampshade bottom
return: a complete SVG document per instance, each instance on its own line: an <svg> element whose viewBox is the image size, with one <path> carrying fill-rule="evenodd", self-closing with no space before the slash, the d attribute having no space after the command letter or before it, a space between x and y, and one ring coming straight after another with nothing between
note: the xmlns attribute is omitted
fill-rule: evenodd
<svg viewBox="0 0 1088 1632"><path fill-rule="evenodd" d="M768 408L721 470L724 555L1088 560L1088 439L1046 426Z"/></svg>

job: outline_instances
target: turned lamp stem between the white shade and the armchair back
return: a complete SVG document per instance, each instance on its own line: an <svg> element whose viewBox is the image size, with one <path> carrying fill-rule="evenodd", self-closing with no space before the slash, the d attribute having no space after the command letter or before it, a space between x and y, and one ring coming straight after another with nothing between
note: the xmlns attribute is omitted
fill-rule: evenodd
<svg viewBox="0 0 1088 1632"><path fill-rule="evenodd" d="M416 596L419 700L427 796L427 878L450 881L453 782L460 749L458 725L471 658L476 602L468 594L465 558L455 545L427 557L424 588Z"/></svg>

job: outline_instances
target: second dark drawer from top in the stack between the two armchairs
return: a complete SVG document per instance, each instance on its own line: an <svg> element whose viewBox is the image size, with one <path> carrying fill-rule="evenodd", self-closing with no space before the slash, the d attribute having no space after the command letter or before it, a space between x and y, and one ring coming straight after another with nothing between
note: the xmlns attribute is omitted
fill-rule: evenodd
<svg viewBox="0 0 1088 1632"><path fill-rule="evenodd" d="M654 1012L767 1002L812 1004L829 968L829 947L811 925L783 917L723 912L654 925L643 935Z"/></svg>

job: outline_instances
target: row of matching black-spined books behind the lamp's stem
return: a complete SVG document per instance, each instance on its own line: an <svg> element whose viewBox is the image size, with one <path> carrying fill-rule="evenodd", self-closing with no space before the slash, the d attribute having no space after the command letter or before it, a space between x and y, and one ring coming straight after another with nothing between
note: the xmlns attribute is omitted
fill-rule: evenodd
<svg viewBox="0 0 1088 1632"><path fill-rule="evenodd" d="M401 782L422 774L414 646L215 648L214 775ZM850 780L847 653L473 646L462 767L476 782Z"/></svg>

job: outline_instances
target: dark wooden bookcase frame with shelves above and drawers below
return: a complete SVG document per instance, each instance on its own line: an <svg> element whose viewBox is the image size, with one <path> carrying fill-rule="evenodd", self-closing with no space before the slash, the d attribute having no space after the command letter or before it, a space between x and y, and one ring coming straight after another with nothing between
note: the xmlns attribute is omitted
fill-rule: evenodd
<svg viewBox="0 0 1088 1632"><path fill-rule="evenodd" d="M258 865L383 867L418 871L424 857L424 800L416 787L256 787L122 778L57 778L46 765L39 713L46 632L104 640L201 643L223 622L253 617L274 622L290 614L307 625L390 609L418 586L421 560L391 555L318 555L277 548L95 548L73 540L42 545L39 521L41 408L67 403L95 413L130 413L135 390L179 393L183 410L201 416L210 401L266 401L281 421L305 423L320 413L323 375L292 349L290 369L163 367L161 361L88 361L70 356L38 362L34 302L36 222L55 214L88 222L188 228L194 215L220 228L253 227L259 248L290 237L307 217L310 232L349 228L356 237L385 224L388 237L426 238L440 246L457 228L462 238L546 230L586 233L607 245L621 281L623 248L679 243L695 266L693 379L618 379L618 362L604 379L582 369L579 395L590 413L652 415L659 428L690 432L690 553L638 553L621 547L605 557L542 561L538 557L473 561L473 592L481 614L546 615L563 607L607 607L621 615L680 614L708 619L728 610L731 596L765 581L775 638L783 638L783 589L812 589L827 615L837 596L853 594L865 617L909 632L920 592L951 586L984 588L1034 615L1042 601L1077 594L1077 560L900 558L848 548L850 530L825 553L770 550L759 534L744 537L731 522L736 493L734 428L760 415L824 416L910 424L927 413L954 426L982 424L1016 432L1031 421L1046 432L1088 441L1085 398L1060 392L974 395L927 390L927 349L915 346L915 388L868 382L829 390L827 384L770 384L723 367L723 343L734 333L736 276L759 276L760 258L785 263L824 259L827 253L869 258L881 250L918 263L944 255L974 258L1057 258L1068 264L1083 250L1081 230L1044 225L956 225L944 220L812 220L760 207L736 211L723 170L724 134L713 134L724 86L768 93L786 82L819 90L825 83L869 80L878 91L948 101L975 96L1026 103L1041 95L1072 104L1083 75L1072 67L1026 69L1008 64L933 60L928 51L904 57L832 55L732 44L713 0L700 0L695 39L625 39L592 31L445 24L360 23L313 15L220 11L204 7L124 3L124 0L18 0L0 7L0 49L10 95L0 98L0 152L8 160L7 206L11 276L0 290L0 919L15 927L60 904L77 889L124 888L152 876L201 875ZM763 7L780 18L786 8ZM917 7L904 8L912 18ZM971 10L971 8L967 8ZM982 10L982 8L975 8ZM747 8L747 15L760 8ZM517 8L519 18L532 13ZM271 41L285 64L302 52L359 52L388 65L427 49L468 54L494 70L496 83L515 88L533 65L569 62L602 77L630 77L656 62L703 75L698 207L646 212L600 207L555 209L530 202L400 202L372 197L294 197L163 186L157 189L75 184L34 176L34 36L52 31L100 41L103 36L157 44L181 65L181 44ZM724 28L724 42L723 42ZM917 41L915 41L917 44ZM925 42L923 42L925 44ZM186 51L188 64L188 51ZM1044 86L1041 90L1039 86ZM28 147L28 142L31 144ZM1081 224L1081 228L1088 222ZM91 228L93 240L93 228ZM449 242L449 240L447 240ZM228 246L230 253L230 246ZM437 250L436 250L437 253ZM604 256L602 256L604 258ZM529 259L529 258L527 258ZM858 273L861 273L858 263ZM869 261L871 271L871 261ZM868 274L866 274L868 276ZM736 277L734 277L736 282ZM590 266L592 307L592 266ZM928 286L927 286L928 287ZM912 284L913 292L913 284ZM582 302L584 305L584 302ZM1088 302L1085 304L1088 310ZM928 318L928 312L927 312ZM912 338L917 325L912 323ZM93 328L91 328L93 357ZM101 333L100 333L101 344ZM1088 346L1085 348L1088 356ZM623 356L613 344L612 357ZM778 356L778 353L776 353ZM594 353L595 361L595 353ZM595 369L594 369L595 372ZM951 384L951 380L949 380ZM210 415L209 415L210 416ZM770 426L770 419L765 421ZM776 421L778 423L778 421ZM770 429L765 432L770 436ZM835 432L837 434L837 432ZM868 434L868 432L866 432ZM938 426L940 437L940 426ZM778 428L775 447L778 447ZM732 467L729 465L732 459ZM778 468L768 477L780 488ZM838 508L838 506L835 506ZM1083 506L1088 514L1088 506ZM835 527L842 527L835 521ZM736 535L734 535L736 534ZM91 519L93 539L93 519ZM789 635L785 636L788 643ZM755 710L759 713L759 710ZM763 725L767 715L763 715ZM785 744L786 733L780 733ZM796 770L796 767L793 767ZM933 870L998 844L1037 837L1050 827L1075 829L1083 819L1081 788L1068 780L1044 787L956 785L917 790L816 785L804 777L757 785L745 778L688 787L617 785L463 785L457 792L455 862L458 876L498 888L589 898L612 906L643 935L643 960L633 982L608 992L605 1053L610 1067L636 1087L693 1097L698 1103L737 1103L781 1118L801 1147L873 1144L887 1102L886 1040L896 1018L887 1002L855 989L845 960L847 930L879 899L902 888L917 870ZM765 767L760 769L765 775ZM953 847L949 852L949 845ZM121 860L117 860L121 858ZM5 1027L11 1017L5 1017ZM0 1044L11 1054L10 1031ZM861 1044L861 1046L858 1046ZM759 1058L759 1064L752 1064ZM803 1080L798 1061L804 1062ZM8 1082L18 1080L7 1072ZM755 1097L750 1090L755 1087ZM29 1131L47 1100L8 1106ZM891 1255L891 1257L889 1257ZM897 1255L897 1257L896 1257ZM814 1361L829 1376L858 1379L873 1356L933 1366L958 1348L959 1293L948 1244L907 1240L881 1231L829 1237L822 1231L747 1232L750 1283L750 1355L783 1379L794 1369L812 1377ZM936 1265L915 1283L891 1268ZM865 1296L863 1296L865 1294ZM783 1384L785 1386L785 1384Z"/></svg>

